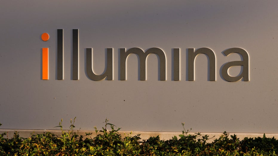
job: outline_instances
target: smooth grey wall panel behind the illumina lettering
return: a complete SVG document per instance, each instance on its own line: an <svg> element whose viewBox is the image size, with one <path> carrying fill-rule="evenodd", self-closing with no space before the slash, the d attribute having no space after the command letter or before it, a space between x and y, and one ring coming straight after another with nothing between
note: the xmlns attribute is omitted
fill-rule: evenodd
<svg viewBox="0 0 278 156"><path fill-rule="evenodd" d="M277 133L277 1L1 1L1 129L57 129L61 118L76 128L101 128L105 118L123 131ZM63 29L63 80L57 80L57 29ZM79 29L79 80L73 76L72 29ZM48 33L48 41L42 41ZM49 80L42 80L42 48L49 49ZM127 80L120 80L120 48L152 47L166 57L166 81L159 81L158 57L147 59L140 81L138 58L129 55ZM195 59L188 81L188 48L210 48L216 81L209 81L208 58ZM229 48L249 55L249 81L228 82ZM105 69L113 48L113 80L86 75L86 48L93 48L93 71ZM180 81L173 81L173 48L180 48ZM231 76L242 72L229 68Z"/></svg>

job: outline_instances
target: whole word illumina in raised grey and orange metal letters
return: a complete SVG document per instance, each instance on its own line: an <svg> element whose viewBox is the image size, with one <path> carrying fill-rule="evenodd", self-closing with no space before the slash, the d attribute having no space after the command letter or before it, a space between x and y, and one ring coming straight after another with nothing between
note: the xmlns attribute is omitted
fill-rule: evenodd
<svg viewBox="0 0 278 156"><path fill-rule="evenodd" d="M78 80L78 60L79 60L79 35L78 29L73 29L73 80ZM43 33L41 36L43 41L47 41L49 39L49 35L47 33ZM57 79L63 80L63 29L57 30ZM159 63L159 80L166 80L166 56L162 49L160 48L149 48L144 52L144 50L133 47L128 50L125 48L120 48L120 80L126 80L126 61L128 55L136 54L139 57L139 70L140 70L140 80L146 80L146 60L149 54L158 55L158 63ZM242 48L229 48L223 52L225 56L230 55L231 53L238 53L242 56L242 61L230 61L223 64L221 74L226 81L235 82L239 81L243 78L244 81L249 81L249 57L248 53ZM194 48L188 48L188 81L194 81L194 61L197 55L205 54L209 59L209 81L216 81L216 57L214 52L209 48L199 48L194 50ZM180 80L180 49L173 48L173 80ZM101 75L96 75L93 72L92 60L93 60L93 50L92 48L86 48L86 74L87 76L94 81L100 81L105 78L107 80L113 80L113 48L107 48L107 64L106 70ZM238 76L230 76L228 74L228 69L233 66L242 66L243 70ZM48 48L42 48L42 79L48 80Z"/></svg>

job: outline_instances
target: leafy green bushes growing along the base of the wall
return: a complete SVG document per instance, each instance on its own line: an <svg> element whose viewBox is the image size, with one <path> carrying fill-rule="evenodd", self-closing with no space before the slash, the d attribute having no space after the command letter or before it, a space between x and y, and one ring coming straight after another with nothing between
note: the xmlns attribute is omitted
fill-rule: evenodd
<svg viewBox="0 0 278 156"><path fill-rule="evenodd" d="M159 136L141 140L140 135L122 136L113 124L105 120L102 130L94 127L96 136L88 138L92 133L85 136L78 135L73 131L75 123L70 120L70 131L65 132L62 128L62 120L59 126L62 135L50 132L32 135L30 138L19 137L14 132L13 138L4 137L7 133L0 134L0 155L277 155L278 140L273 138L244 138L239 140L236 135L224 132L219 138L207 143L208 135L200 133L189 134L182 123L183 131L179 139L173 136L170 140L161 140ZM1 126L1 123L0 123ZM111 130L107 130L110 126ZM115 126L116 127L116 126Z"/></svg>

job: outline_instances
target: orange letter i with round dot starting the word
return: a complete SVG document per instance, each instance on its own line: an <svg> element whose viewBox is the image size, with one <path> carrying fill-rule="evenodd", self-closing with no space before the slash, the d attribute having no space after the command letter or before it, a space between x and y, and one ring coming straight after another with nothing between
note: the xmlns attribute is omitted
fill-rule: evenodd
<svg viewBox="0 0 278 156"><path fill-rule="evenodd" d="M42 34L42 40L47 41L49 35L47 33ZM48 80L48 48L42 48L42 79Z"/></svg>

